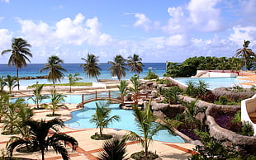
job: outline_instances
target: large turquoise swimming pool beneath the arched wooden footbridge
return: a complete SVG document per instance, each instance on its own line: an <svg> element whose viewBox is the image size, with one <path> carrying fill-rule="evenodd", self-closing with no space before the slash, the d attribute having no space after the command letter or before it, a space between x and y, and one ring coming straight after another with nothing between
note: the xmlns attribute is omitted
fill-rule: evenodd
<svg viewBox="0 0 256 160"><path fill-rule="evenodd" d="M28 104L34 104L34 102L29 99L29 97L24 97ZM11 101L15 101L17 98L11 99ZM81 95L66 95L64 97L66 103L75 103L78 104L82 101ZM50 99L45 99L42 103L49 103ZM84 108L79 111L73 111L71 114L73 118L64 122L64 124L73 129L85 129L85 128L96 128L96 125L91 123L92 115L95 113L96 105L95 103L99 101L92 101L85 104ZM133 115L133 111L131 110L123 110L119 108L119 104L111 104L109 106L112 111L111 115L119 115L120 121L114 121L112 124L108 125L108 128L113 129L126 129L130 131L134 131L139 134L139 129L136 128L135 116ZM168 130L159 130L157 135L154 135L154 140L164 141L164 142L174 142L174 143L185 143L185 141L179 137L178 135L169 134Z"/></svg>

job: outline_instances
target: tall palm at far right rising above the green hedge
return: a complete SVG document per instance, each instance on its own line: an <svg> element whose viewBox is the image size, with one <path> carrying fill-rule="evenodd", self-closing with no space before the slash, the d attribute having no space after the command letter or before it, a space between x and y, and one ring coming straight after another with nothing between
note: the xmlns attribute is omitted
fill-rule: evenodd
<svg viewBox="0 0 256 160"><path fill-rule="evenodd" d="M250 41L249 40L244 40L244 45L243 45L243 49L237 49L236 50L236 53L235 53L235 56L241 56L244 58L244 64L245 64L245 68L247 69L247 59L250 57L250 56L254 56L254 51L252 49L248 49L249 47L249 43Z"/></svg>

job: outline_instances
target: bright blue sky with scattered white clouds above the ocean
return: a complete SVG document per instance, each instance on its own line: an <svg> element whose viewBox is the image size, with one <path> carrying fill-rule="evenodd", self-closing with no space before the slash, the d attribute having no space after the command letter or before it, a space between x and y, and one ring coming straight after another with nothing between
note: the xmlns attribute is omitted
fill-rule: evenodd
<svg viewBox="0 0 256 160"><path fill-rule="evenodd" d="M0 51L22 38L32 64L51 55L83 63L88 53L102 63L117 54L144 63L232 57L244 40L256 51L254 8L255 0L0 0Z"/></svg>

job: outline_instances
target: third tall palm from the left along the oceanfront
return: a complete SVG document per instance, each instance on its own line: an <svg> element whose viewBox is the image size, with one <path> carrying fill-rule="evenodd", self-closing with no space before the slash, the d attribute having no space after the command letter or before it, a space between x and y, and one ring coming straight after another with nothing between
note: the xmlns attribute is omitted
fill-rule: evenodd
<svg viewBox="0 0 256 160"><path fill-rule="evenodd" d="M87 55L87 59L82 58L85 61L85 64L80 64L80 67L83 67L84 73L89 76L89 78L96 78L101 75L102 68L98 67L98 57L94 54ZM97 79L98 82L98 79Z"/></svg>

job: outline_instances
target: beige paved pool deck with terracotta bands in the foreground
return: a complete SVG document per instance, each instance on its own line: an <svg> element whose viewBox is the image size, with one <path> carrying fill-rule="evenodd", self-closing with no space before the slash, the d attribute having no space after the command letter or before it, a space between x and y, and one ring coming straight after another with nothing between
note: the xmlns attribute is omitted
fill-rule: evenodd
<svg viewBox="0 0 256 160"><path fill-rule="evenodd" d="M25 93L23 93L23 96ZM77 94L77 92L73 92L73 94ZM80 93L78 93L80 94ZM59 117L62 120L71 119L70 113L72 111L77 111L77 104L68 104L69 109L59 109L56 113L61 114ZM47 117L45 115L51 113L50 110L38 110L35 111L35 115L33 117L34 120L50 120L52 117ZM0 129L2 129L2 124L0 124ZM69 134L73 136L73 138L78 140L78 148L75 152L71 151L71 148L67 146L69 151L70 159L89 159L94 160L97 159L99 152L102 150L102 140L93 140L90 138L92 134L98 132L97 129L71 129L69 125L65 126L61 129L62 133ZM123 129L104 129L103 131L106 134L112 134L116 138L121 138L123 135L127 133L127 130ZM12 135L13 136L13 135ZM0 149L5 151L8 140L12 137L11 135L2 135L0 134ZM159 154L159 159L187 159L192 153L192 148L195 148L195 145L189 143L168 143L168 142L160 142L154 141L151 144L149 150L152 152L156 152ZM127 142L126 149L128 153L128 157L130 157L131 153L138 152L143 150L138 142ZM40 159L40 152L36 153L13 153L13 157L20 158L31 158L31 159ZM62 159L60 154L56 154L53 149L50 148L49 152L45 153L45 159L47 160L55 160Z"/></svg>

